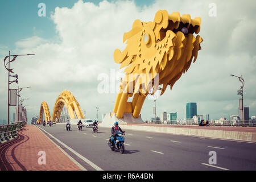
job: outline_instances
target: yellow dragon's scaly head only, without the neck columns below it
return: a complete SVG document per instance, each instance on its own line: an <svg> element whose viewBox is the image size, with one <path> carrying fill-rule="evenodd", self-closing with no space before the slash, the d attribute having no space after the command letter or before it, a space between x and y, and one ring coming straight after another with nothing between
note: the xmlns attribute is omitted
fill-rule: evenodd
<svg viewBox="0 0 256 182"><path fill-rule="evenodd" d="M188 70L193 57L193 62L196 61L203 39L193 34L199 34L200 24L199 17L191 19L190 15L180 16L178 12L169 15L166 10L159 10L153 22L137 19L131 31L123 35L123 42L127 40L125 50L115 49L115 63L126 67L127 74L158 74L159 85L163 84L162 95L167 85L172 89Z"/></svg>

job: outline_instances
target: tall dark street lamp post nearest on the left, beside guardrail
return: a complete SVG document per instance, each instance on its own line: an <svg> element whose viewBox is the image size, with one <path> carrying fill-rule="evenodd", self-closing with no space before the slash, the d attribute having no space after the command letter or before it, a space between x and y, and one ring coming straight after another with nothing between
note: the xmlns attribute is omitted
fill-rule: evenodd
<svg viewBox="0 0 256 182"><path fill-rule="evenodd" d="M9 90L10 90L10 84L12 84L13 82L16 82L16 84L18 84L18 75L15 75L14 77L16 77L16 80L15 81L11 81L10 82L10 72L11 73L14 73L13 72L13 69L10 69L10 63L15 61L16 57L18 56L30 56L30 55L35 55L35 54L26 54L26 55L10 55L10 52L9 51L9 56L6 56L5 59L3 60L3 64L5 65L5 68L7 69L8 71L8 125L10 125L10 94L9 94ZM10 61L10 57L13 56L13 59ZM7 63L5 63L6 59L9 58L9 61ZM8 64L8 68L7 68L7 64Z"/></svg>

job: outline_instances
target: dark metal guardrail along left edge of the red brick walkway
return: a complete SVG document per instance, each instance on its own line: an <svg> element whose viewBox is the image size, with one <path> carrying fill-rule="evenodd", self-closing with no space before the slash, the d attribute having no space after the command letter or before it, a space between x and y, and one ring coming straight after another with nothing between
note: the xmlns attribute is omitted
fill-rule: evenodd
<svg viewBox="0 0 256 182"><path fill-rule="evenodd" d="M11 125L0 125L0 144L18 136L18 130L26 125L26 122L14 122Z"/></svg>

